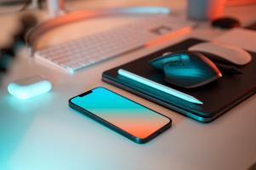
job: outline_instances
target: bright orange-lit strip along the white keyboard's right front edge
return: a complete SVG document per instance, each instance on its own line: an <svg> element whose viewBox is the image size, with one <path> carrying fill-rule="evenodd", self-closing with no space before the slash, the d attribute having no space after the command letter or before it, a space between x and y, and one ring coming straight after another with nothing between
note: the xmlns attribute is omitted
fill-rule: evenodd
<svg viewBox="0 0 256 170"><path fill-rule="evenodd" d="M156 44L160 44L162 42L167 42L167 41L173 39L174 37L183 36L189 32L191 32L191 27L185 27L185 28L181 29L180 31L171 32L166 35L163 35L162 37L157 38L156 40L146 42L145 47L147 48L147 47L151 47Z"/></svg>

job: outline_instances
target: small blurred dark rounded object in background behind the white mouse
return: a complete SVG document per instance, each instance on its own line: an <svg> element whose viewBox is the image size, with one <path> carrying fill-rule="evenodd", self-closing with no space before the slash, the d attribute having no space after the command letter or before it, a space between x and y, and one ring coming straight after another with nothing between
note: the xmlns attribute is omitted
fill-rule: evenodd
<svg viewBox="0 0 256 170"><path fill-rule="evenodd" d="M234 27L240 27L241 23L239 20L231 17L221 17L212 21L212 26L223 29L230 29Z"/></svg>

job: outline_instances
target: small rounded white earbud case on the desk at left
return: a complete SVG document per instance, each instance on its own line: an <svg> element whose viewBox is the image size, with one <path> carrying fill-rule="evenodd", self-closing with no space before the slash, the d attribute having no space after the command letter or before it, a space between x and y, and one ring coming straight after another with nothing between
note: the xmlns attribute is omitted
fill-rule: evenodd
<svg viewBox="0 0 256 170"><path fill-rule="evenodd" d="M40 94L45 94L51 89L51 82L38 75L10 82L8 86L9 94L19 99L29 99Z"/></svg>

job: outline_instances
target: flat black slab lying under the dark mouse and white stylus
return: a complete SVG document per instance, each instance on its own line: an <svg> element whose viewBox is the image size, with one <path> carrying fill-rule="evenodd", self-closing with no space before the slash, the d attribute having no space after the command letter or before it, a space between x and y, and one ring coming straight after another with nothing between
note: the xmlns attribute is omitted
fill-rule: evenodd
<svg viewBox="0 0 256 170"><path fill-rule="evenodd" d="M151 65L149 60L155 59L169 51L179 51L190 48L192 45L204 42L199 39L190 38L183 42L174 44L168 48L163 48L153 54L146 55L127 64L117 66L102 74L102 79L119 88L128 90L145 99L150 99L159 105L164 105L169 109L177 111L185 116L201 122L211 122L216 117L230 110L230 108L255 94L256 91L256 54L252 54L252 62L248 65L239 67L243 72L241 75L226 75L215 82L211 82L200 88L179 88L164 81L162 71L157 71ZM145 77L162 85L177 89L185 94L200 99L203 105L193 104L191 102L179 99L170 94L156 90L139 82L134 82L128 78L118 76L118 69L124 69L140 77Z"/></svg>

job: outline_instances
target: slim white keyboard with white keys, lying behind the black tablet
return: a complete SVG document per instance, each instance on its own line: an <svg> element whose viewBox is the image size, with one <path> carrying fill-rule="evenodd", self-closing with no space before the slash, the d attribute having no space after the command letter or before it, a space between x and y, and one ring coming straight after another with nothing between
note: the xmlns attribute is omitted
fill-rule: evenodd
<svg viewBox="0 0 256 170"><path fill-rule="evenodd" d="M60 43L35 53L35 58L54 65L68 73L111 59L138 48L158 38L188 33L191 24L176 22L168 15L136 20L125 26Z"/></svg>

